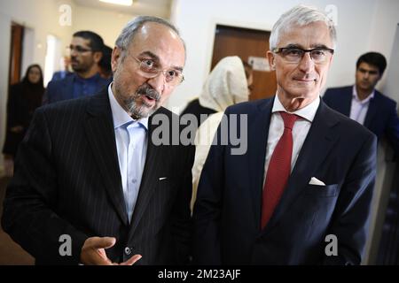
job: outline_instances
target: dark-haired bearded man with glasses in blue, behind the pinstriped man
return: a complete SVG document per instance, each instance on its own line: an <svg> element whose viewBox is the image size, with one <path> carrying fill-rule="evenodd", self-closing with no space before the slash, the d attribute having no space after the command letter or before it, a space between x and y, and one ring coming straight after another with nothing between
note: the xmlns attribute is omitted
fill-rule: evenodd
<svg viewBox="0 0 399 283"><path fill-rule="evenodd" d="M98 73L103 57L104 42L91 31L74 33L69 45L74 73L62 80L51 80L43 96L43 104L57 103L83 96L94 96L111 82Z"/></svg>

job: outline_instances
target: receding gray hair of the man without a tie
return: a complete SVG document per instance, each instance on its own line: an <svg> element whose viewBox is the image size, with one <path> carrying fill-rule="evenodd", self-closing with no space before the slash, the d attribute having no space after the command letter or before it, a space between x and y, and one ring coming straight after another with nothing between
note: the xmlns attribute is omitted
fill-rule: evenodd
<svg viewBox="0 0 399 283"><path fill-rule="evenodd" d="M168 22L168 20L166 19L160 19L152 16L139 16L133 20L130 20L129 23L125 27L123 27L121 34L119 34L118 38L116 39L115 45L121 50L128 50L129 44L133 42L133 39L137 34L138 30L140 29L140 27L143 27L147 22L157 23L173 30L179 36L180 40L183 42L185 50L184 40L180 36L180 33L177 30L177 28L174 25L172 25L170 22Z"/></svg>

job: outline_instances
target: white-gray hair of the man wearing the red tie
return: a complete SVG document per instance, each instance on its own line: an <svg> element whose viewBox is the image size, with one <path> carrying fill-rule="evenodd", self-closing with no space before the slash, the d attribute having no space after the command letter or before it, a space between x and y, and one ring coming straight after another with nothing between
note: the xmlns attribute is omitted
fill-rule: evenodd
<svg viewBox="0 0 399 283"><path fill-rule="evenodd" d="M333 48L337 42L337 30L335 29L334 22L328 18L324 11L318 10L316 7L297 5L286 11L281 15L280 19L274 24L270 34L270 50L277 48L280 34L284 33L290 27L299 26L303 27L316 21L323 21L330 30L330 37L332 39Z"/></svg>

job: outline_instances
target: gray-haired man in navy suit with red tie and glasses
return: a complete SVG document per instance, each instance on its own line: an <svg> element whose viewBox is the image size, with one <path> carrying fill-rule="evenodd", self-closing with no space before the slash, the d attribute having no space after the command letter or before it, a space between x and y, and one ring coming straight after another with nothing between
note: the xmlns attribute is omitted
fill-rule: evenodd
<svg viewBox="0 0 399 283"><path fill-rule="evenodd" d="M210 149L193 213L197 264L360 264L376 138L320 99L335 36L324 12L302 5L273 27L277 95L225 112L246 117L225 124L247 133L247 150ZM223 133L222 123L215 139Z"/></svg>

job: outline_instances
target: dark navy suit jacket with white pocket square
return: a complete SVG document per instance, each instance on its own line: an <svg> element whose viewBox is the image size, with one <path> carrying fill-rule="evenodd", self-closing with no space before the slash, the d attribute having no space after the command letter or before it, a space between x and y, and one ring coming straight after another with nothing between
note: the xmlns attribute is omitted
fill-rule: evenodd
<svg viewBox="0 0 399 283"><path fill-rule="evenodd" d="M247 152L231 155L230 142L210 149L193 213L196 263L360 264L375 178L375 135L321 102L287 187L262 230L272 105L268 99L226 110L228 116L247 114L247 127L239 128L239 134L247 129ZM312 177L326 186L309 185ZM337 236L339 256L325 256L328 234Z"/></svg>

